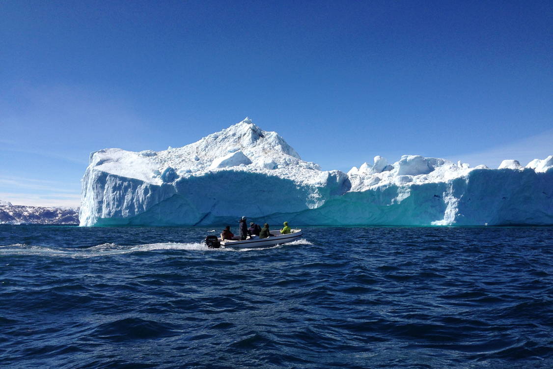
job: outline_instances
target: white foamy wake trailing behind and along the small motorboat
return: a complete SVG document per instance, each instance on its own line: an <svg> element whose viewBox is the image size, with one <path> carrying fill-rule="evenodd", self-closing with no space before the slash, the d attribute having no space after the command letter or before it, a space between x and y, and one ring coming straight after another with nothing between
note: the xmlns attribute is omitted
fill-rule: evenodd
<svg viewBox="0 0 553 369"><path fill-rule="evenodd" d="M57 248L46 246L25 245L24 243L16 243L14 245L0 246L0 256L44 256L44 257L75 257L75 258L87 258L87 257L101 257L101 256L117 256L124 254L131 254L136 252L150 252L159 250L196 250L196 251L251 251L251 250L267 250L269 248L276 248L282 246L297 246L297 245L312 245L305 239L296 240L286 243L285 245L276 245L265 248L208 248L205 243L191 242L191 243L176 243L176 242L164 242L164 243L146 243L144 245L132 245L123 246L116 245L115 243L102 243L87 248Z"/></svg>

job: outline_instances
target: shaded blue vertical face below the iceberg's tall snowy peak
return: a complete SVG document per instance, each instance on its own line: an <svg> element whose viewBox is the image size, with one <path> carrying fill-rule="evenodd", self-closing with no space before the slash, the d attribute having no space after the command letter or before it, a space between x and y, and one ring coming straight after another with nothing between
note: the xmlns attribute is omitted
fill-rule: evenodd
<svg viewBox="0 0 553 369"><path fill-rule="evenodd" d="M341 172L340 172L341 173ZM201 176L180 178L173 184L154 185L140 180L109 178L102 174L104 183L97 193L118 194L106 203L97 202L98 214L93 225L147 225L147 226L200 226L234 225L239 216L276 221L275 214L297 214L317 207L332 196L342 195L349 189L347 176L328 174L322 186L299 185L293 180L249 171L220 170ZM126 183L120 184L119 181ZM129 197L133 194L135 198ZM148 204L148 197L161 199L143 211L134 204ZM131 205L131 206L129 206ZM131 216L125 216L135 211ZM280 219L278 219L280 221Z"/></svg>

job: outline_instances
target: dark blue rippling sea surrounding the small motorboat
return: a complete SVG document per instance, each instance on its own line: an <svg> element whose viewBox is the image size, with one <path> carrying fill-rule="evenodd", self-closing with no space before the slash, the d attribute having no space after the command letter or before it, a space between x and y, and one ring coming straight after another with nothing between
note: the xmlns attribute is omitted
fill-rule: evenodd
<svg viewBox="0 0 553 369"><path fill-rule="evenodd" d="M0 366L553 367L553 227L213 229L0 225Z"/></svg>

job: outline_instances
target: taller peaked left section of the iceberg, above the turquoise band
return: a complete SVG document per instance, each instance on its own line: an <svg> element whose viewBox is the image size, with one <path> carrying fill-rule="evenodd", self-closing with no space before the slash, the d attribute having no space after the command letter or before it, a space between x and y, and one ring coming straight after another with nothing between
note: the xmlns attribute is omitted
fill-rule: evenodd
<svg viewBox="0 0 553 369"><path fill-rule="evenodd" d="M82 189L81 225L190 225L214 222L234 208L249 214L311 209L347 191L349 180L301 160L278 133L246 118L179 148L93 152ZM266 198L265 205L257 198Z"/></svg>

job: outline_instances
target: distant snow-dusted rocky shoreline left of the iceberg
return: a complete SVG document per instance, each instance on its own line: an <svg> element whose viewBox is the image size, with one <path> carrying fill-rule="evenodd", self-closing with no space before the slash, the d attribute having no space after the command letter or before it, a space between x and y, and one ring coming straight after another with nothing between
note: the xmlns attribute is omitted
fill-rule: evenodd
<svg viewBox="0 0 553 369"><path fill-rule="evenodd" d="M12 205L0 201L0 224L79 224L79 209Z"/></svg>

